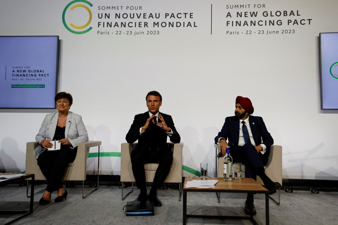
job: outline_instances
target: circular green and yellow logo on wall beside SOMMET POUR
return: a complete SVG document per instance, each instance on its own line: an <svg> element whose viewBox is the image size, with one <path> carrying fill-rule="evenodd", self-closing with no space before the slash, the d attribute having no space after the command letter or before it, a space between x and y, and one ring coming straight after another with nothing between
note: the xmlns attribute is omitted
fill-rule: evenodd
<svg viewBox="0 0 338 225"><path fill-rule="evenodd" d="M83 3L83 4L74 4L74 3ZM74 0L74 1L71 1L65 7L62 13L62 22L67 30L69 30L70 32L74 34L84 34L92 29L92 27L90 26L90 22L92 22L92 11L90 10L88 6L92 7L93 4L86 0ZM66 16L66 13L67 13L67 16ZM88 18L88 14L89 14L89 18ZM68 23L69 23L69 26L68 26ZM73 23L80 25L80 26L74 25Z"/></svg>

